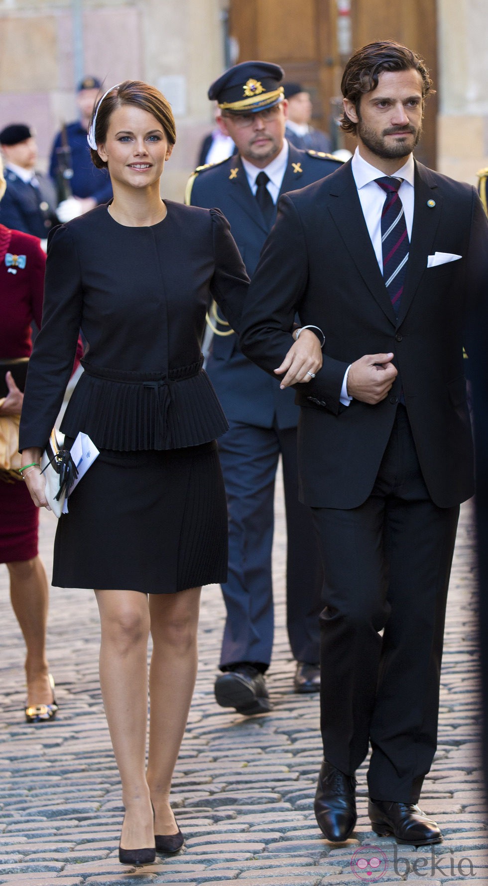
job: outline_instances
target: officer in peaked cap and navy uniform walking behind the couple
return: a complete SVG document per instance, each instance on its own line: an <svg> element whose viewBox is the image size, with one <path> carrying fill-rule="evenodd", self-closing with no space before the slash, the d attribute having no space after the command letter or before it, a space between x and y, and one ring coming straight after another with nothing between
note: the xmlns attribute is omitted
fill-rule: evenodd
<svg viewBox="0 0 488 886"><path fill-rule="evenodd" d="M285 140L283 70L245 62L209 89L219 106L218 124L238 152L191 177L187 202L217 206L231 224L252 276L276 218L278 195L316 182L340 166L316 152L297 151ZM237 336L217 310L210 311L213 341L207 371L230 424L219 441L229 505L229 579L223 586L227 619L217 677L217 703L241 713L271 710L263 674L271 661L273 598L271 545L273 494L281 454L286 498L287 627L297 669L297 692L319 689L319 623L322 570L309 510L298 501L296 424L292 391L280 391L240 352ZM277 364L278 365L278 364Z"/></svg>

